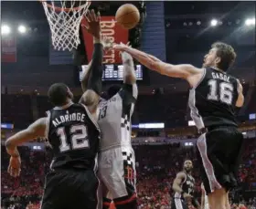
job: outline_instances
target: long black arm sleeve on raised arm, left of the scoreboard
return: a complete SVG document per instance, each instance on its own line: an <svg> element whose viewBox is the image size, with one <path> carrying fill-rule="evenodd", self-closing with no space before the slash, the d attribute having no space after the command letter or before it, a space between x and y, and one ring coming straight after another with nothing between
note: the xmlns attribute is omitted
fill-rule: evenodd
<svg viewBox="0 0 256 209"><path fill-rule="evenodd" d="M88 80L88 89L94 90L97 94L101 94L102 89L102 70L103 70L103 46L100 43L94 44L94 50L91 60L91 73Z"/></svg>

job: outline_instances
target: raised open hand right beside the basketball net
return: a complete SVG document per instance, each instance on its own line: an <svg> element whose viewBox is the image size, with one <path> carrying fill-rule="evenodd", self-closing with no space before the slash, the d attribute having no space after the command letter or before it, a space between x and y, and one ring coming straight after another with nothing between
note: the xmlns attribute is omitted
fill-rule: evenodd
<svg viewBox="0 0 256 209"><path fill-rule="evenodd" d="M101 39L101 15L100 12L95 15L93 9L89 10L87 16L87 26L82 25L93 37Z"/></svg>

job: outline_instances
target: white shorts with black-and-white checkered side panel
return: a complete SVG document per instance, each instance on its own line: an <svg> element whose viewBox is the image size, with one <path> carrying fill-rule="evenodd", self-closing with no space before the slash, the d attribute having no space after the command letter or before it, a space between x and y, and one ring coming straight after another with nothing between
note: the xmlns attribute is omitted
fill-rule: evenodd
<svg viewBox="0 0 256 209"><path fill-rule="evenodd" d="M132 147L117 147L99 154L99 177L111 199L136 193L135 157Z"/></svg>

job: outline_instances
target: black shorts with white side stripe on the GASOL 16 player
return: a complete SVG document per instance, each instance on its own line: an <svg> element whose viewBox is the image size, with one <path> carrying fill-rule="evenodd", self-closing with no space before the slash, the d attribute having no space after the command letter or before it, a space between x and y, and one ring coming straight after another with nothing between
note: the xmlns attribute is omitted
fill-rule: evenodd
<svg viewBox="0 0 256 209"><path fill-rule="evenodd" d="M238 186L242 147L243 136L236 127L212 129L198 138L197 159L207 193Z"/></svg>

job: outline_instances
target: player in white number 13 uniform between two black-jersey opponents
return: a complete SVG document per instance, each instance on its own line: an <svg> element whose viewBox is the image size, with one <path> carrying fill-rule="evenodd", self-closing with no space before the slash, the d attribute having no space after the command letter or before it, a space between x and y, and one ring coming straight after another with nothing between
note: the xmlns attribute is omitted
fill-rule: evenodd
<svg viewBox="0 0 256 209"><path fill-rule="evenodd" d="M82 89L94 83L95 92L101 94L102 54L97 48L95 34L100 32L100 21L89 16L88 31L94 37L91 63L82 76ZM91 18L92 17L92 18ZM99 19L99 18L98 18ZM108 40L102 42L104 49L110 47ZM102 52L102 51L101 51ZM99 57L100 56L100 57ZM123 60L123 86L108 89L107 98L98 104L98 123L101 130L99 176L102 183L103 208L115 204L117 209L137 208L135 189L135 158L131 144L132 114L138 89L133 58L121 53Z"/></svg>

